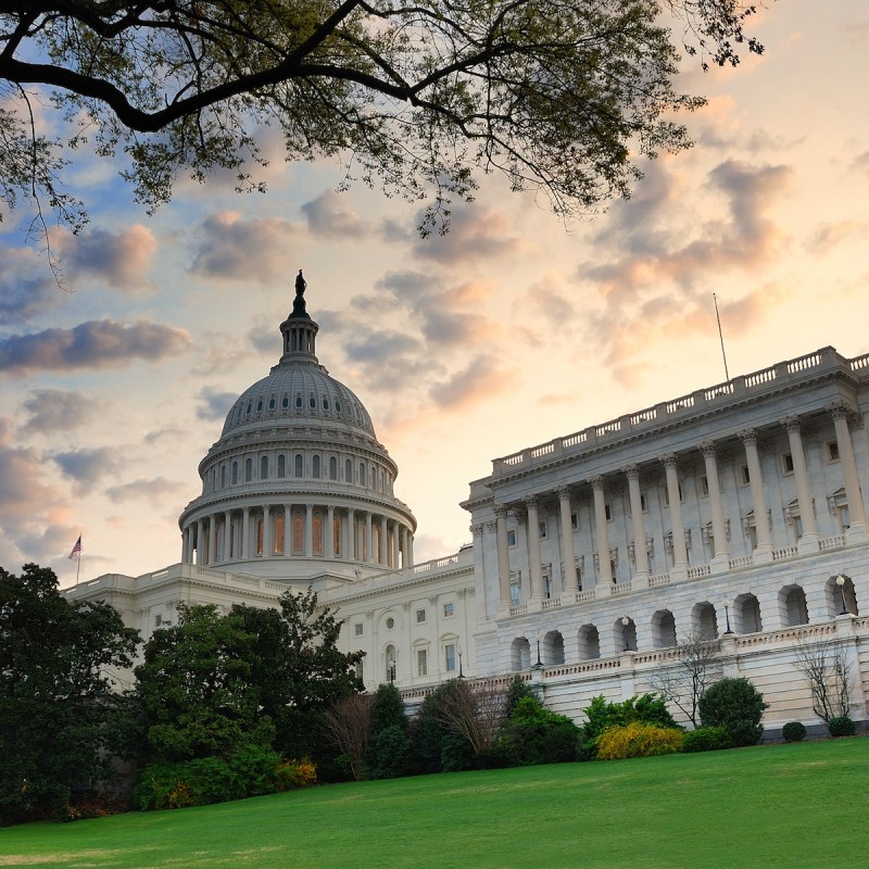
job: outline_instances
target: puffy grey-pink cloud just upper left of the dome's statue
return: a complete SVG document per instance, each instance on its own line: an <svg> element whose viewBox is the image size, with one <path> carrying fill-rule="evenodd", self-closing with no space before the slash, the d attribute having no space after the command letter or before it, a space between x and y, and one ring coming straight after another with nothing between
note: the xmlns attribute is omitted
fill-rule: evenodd
<svg viewBox="0 0 869 869"><path fill-rule="evenodd" d="M295 274L290 241L299 229L289 221L244 219L237 212L224 211L203 221L198 234L200 241L191 268L198 275L267 284Z"/></svg>

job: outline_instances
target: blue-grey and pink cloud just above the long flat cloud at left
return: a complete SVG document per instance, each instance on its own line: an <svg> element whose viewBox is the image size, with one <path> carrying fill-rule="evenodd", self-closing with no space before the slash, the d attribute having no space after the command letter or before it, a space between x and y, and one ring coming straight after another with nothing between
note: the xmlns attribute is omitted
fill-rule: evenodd
<svg viewBox="0 0 869 869"><path fill-rule="evenodd" d="M128 292L154 289L147 274L156 253L156 239L141 224L122 232L93 229L78 236L67 234L60 247L63 265L73 279L96 275Z"/></svg>

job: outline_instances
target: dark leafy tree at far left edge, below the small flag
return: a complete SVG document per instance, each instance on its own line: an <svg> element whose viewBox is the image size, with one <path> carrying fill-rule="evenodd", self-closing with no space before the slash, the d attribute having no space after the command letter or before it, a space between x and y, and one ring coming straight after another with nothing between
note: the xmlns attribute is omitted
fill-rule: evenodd
<svg viewBox="0 0 869 869"><path fill-rule="evenodd" d="M55 817L111 777L112 690L138 637L105 603L68 603L48 568L0 568L0 823Z"/></svg>

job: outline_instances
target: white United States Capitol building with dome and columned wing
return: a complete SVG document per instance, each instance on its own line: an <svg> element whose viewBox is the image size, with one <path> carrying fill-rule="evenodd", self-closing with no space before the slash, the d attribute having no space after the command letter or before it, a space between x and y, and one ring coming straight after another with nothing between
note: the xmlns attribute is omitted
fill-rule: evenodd
<svg viewBox="0 0 869 869"><path fill-rule="evenodd" d="M304 289L300 273L280 360L200 463L180 563L71 597L148 639L179 602L312 587L368 688L413 705L458 676L530 673L577 719L596 694L653 690L684 638L717 638L715 666L764 693L773 732L818 721L794 650L831 642L867 719L869 355L823 348L496 458L462 503L473 544L416 564L395 462L319 364Z"/></svg>

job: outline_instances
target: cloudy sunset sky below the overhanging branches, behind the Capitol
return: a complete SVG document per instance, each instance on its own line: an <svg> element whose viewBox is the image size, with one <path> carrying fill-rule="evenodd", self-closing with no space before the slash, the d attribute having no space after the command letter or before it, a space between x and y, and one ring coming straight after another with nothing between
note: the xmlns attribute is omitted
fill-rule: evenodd
<svg viewBox="0 0 869 869"><path fill-rule="evenodd" d="M0 566L61 585L180 559L177 517L235 398L280 356L299 268L319 361L368 408L418 520L417 562L470 541L491 461L833 345L869 352L869 7L779 0L735 70L687 59L691 150L566 226L493 176L451 231L418 203L336 192L329 162L268 192L181 179L153 215L71 154L90 224L54 232L68 291L0 223ZM67 555L83 538L80 565Z"/></svg>

